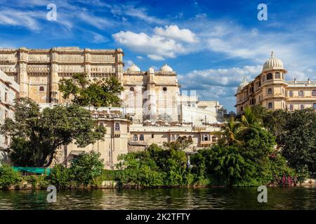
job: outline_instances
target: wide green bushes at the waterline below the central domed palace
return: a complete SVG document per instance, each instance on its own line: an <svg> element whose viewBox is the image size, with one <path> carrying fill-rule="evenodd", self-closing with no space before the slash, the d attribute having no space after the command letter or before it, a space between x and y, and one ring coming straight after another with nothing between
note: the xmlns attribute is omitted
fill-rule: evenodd
<svg viewBox="0 0 316 224"><path fill-rule="evenodd" d="M117 181L131 186L183 186L190 183L185 152L152 144L147 151L119 156Z"/></svg>

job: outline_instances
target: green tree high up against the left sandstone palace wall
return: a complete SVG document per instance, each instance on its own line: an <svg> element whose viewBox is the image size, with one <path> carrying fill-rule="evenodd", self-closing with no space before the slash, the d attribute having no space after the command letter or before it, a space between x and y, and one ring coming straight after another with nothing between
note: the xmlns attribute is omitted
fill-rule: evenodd
<svg viewBox="0 0 316 224"><path fill-rule="evenodd" d="M114 76L90 80L86 73L62 78L58 85L64 99L71 99L80 106L120 106L119 94L124 90Z"/></svg>

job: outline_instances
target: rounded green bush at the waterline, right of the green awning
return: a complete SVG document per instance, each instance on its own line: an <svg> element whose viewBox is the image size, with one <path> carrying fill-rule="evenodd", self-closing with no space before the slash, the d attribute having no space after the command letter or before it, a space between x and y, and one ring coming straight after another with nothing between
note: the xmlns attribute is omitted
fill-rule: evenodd
<svg viewBox="0 0 316 224"><path fill-rule="evenodd" d="M70 179L78 185L88 186L96 184L103 172L103 159L100 159L100 153L91 151L90 153L81 153L78 158L74 158L70 165Z"/></svg>

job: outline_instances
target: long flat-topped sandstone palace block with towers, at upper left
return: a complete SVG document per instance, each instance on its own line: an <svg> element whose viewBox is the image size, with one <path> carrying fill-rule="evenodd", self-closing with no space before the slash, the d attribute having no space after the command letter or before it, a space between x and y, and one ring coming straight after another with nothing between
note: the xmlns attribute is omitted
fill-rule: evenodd
<svg viewBox="0 0 316 224"><path fill-rule="evenodd" d="M0 49L0 69L20 84L20 96L39 103L62 102L60 78L74 73L90 77L123 76L123 51L76 47Z"/></svg>

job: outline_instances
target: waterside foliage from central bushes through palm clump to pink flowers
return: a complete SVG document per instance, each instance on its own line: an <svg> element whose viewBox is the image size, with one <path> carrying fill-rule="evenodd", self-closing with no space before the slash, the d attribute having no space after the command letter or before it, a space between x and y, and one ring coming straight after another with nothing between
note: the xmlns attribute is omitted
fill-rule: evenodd
<svg viewBox="0 0 316 224"><path fill-rule="evenodd" d="M260 108L256 109L260 110ZM181 149L190 139L177 139L165 148L150 146L147 151L128 153L119 157L121 169L116 179L121 185L131 186L259 186L291 185L303 176L287 165L275 150L275 137L263 128L263 116L246 108L240 121L230 118L223 127L222 139L191 155Z"/></svg>

